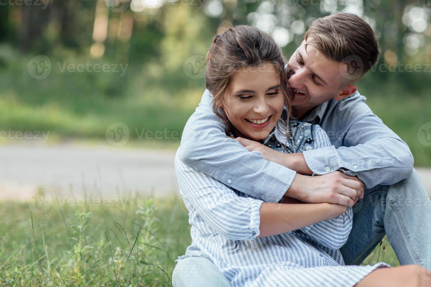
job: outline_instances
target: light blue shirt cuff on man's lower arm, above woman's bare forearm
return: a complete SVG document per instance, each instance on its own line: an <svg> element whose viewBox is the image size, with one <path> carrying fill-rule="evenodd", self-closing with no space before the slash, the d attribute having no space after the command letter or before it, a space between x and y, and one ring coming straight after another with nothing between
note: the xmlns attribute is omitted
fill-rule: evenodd
<svg viewBox="0 0 431 287"><path fill-rule="evenodd" d="M254 189L254 196L265 202L277 203L286 193L296 176L296 171L270 162L265 174Z"/></svg>

